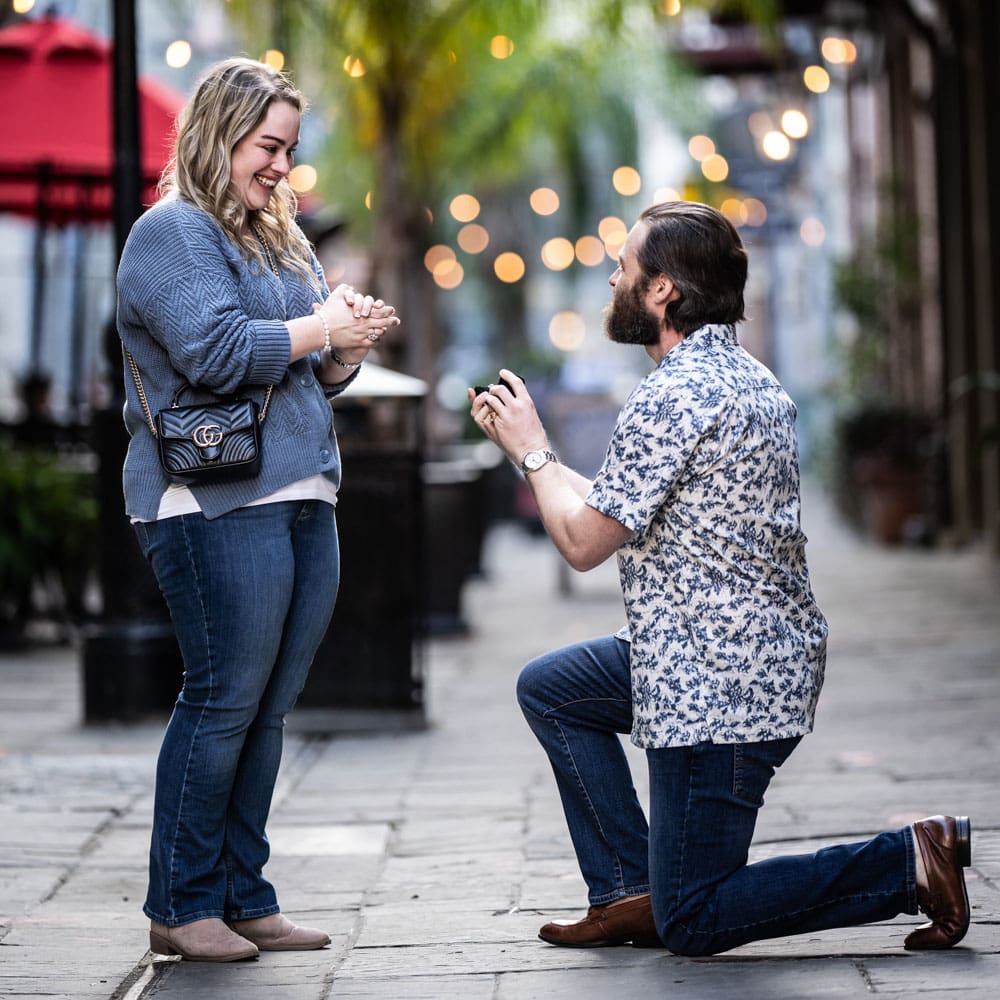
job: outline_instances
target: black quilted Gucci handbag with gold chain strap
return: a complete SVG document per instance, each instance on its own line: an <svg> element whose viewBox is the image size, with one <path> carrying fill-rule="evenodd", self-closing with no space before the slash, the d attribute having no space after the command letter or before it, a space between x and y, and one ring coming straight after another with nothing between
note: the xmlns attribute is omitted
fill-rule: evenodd
<svg viewBox="0 0 1000 1000"><path fill-rule="evenodd" d="M188 387L174 393L170 406L153 419L139 367L125 352L143 415L160 451L163 471L175 483L188 486L243 479L260 469L261 425L267 416L273 385L267 387L264 405L252 399L218 399L211 403L179 406Z"/></svg>

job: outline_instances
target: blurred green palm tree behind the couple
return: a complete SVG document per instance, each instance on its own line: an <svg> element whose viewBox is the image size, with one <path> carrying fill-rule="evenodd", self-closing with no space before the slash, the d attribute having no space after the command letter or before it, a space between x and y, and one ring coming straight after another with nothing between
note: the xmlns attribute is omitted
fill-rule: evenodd
<svg viewBox="0 0 1000 1000"><path fill-rule="evenodd" d="M667 7L666 0L227 5L251 46L294 53L296 79L314 96L313 118L326 131L323 174L331 178L323 193L370 238L371 287L397 305L406 325L390 363L434 381L442 323L423 256L444 231L447 197L467 185L497 198L519 178L558 171L569 222L582 226L593 203L595 149L611 166L635 160L637 101L662 105L669 94L675 119L685 107L690 113L691 91L665 54Z"/></svg>

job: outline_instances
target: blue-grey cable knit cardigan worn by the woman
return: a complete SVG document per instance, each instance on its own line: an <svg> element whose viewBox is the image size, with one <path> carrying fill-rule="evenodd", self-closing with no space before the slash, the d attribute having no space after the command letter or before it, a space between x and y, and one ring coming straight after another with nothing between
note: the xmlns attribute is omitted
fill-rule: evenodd
<svg viewBox="0 0 1000 1000"><path fill-rule="evenodd" d="M316 473L340 485L329 399L351 379L334 386L320 383L318 353L289 363L283 322L308 316L313 303L326 297L326 282L315 258L315 289L276 263L280 280L269 268L262 272L248 264L215 219L176 197L138 219L122 253L118 332L139 367L154 416L185 385L193 388L181 403L231 393L263 402L267 386L274 384L260 473L191 487L208 518ZM123 474L125 509L131 517L155 520L169 480L127 364L125 400L131 435Z"/></svg>

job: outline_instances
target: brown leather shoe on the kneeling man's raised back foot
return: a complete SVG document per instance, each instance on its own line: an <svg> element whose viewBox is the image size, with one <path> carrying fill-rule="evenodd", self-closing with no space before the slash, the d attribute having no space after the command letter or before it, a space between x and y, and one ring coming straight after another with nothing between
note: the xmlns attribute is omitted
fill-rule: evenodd
<svg viewBox="0 0 1000 1000"><path fill-rule="evenodd" d="M951 948L969 929L962 869L972 863L972 826L968 816L931 816L914 823L913 834L927 873L927 888L917 886L917 903L931 921L911 931L903 947Z"/></svg>

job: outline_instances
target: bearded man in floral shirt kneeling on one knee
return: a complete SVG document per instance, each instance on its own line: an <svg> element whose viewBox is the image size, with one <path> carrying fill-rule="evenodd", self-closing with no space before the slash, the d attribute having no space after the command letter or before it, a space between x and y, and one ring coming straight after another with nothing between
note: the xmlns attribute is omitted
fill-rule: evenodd
<svg viewBox="0 0 1000 1000"><path fill-rule="evenodd" d="M520 466L566 561L617 553L628 625L529 663L518 700L549 756L590 909L555 945L710 955L886 920L930 922L909 949L965 935L967 817L748 865L757 810L812 729L827 626L799 527L795 408L737 343L747 259L714 209L643 212L612 274L606 330L656 366L625 403L593 482L551 451L502 370L472 415ZM650 810L618 739L646 751Z"/></svg>

